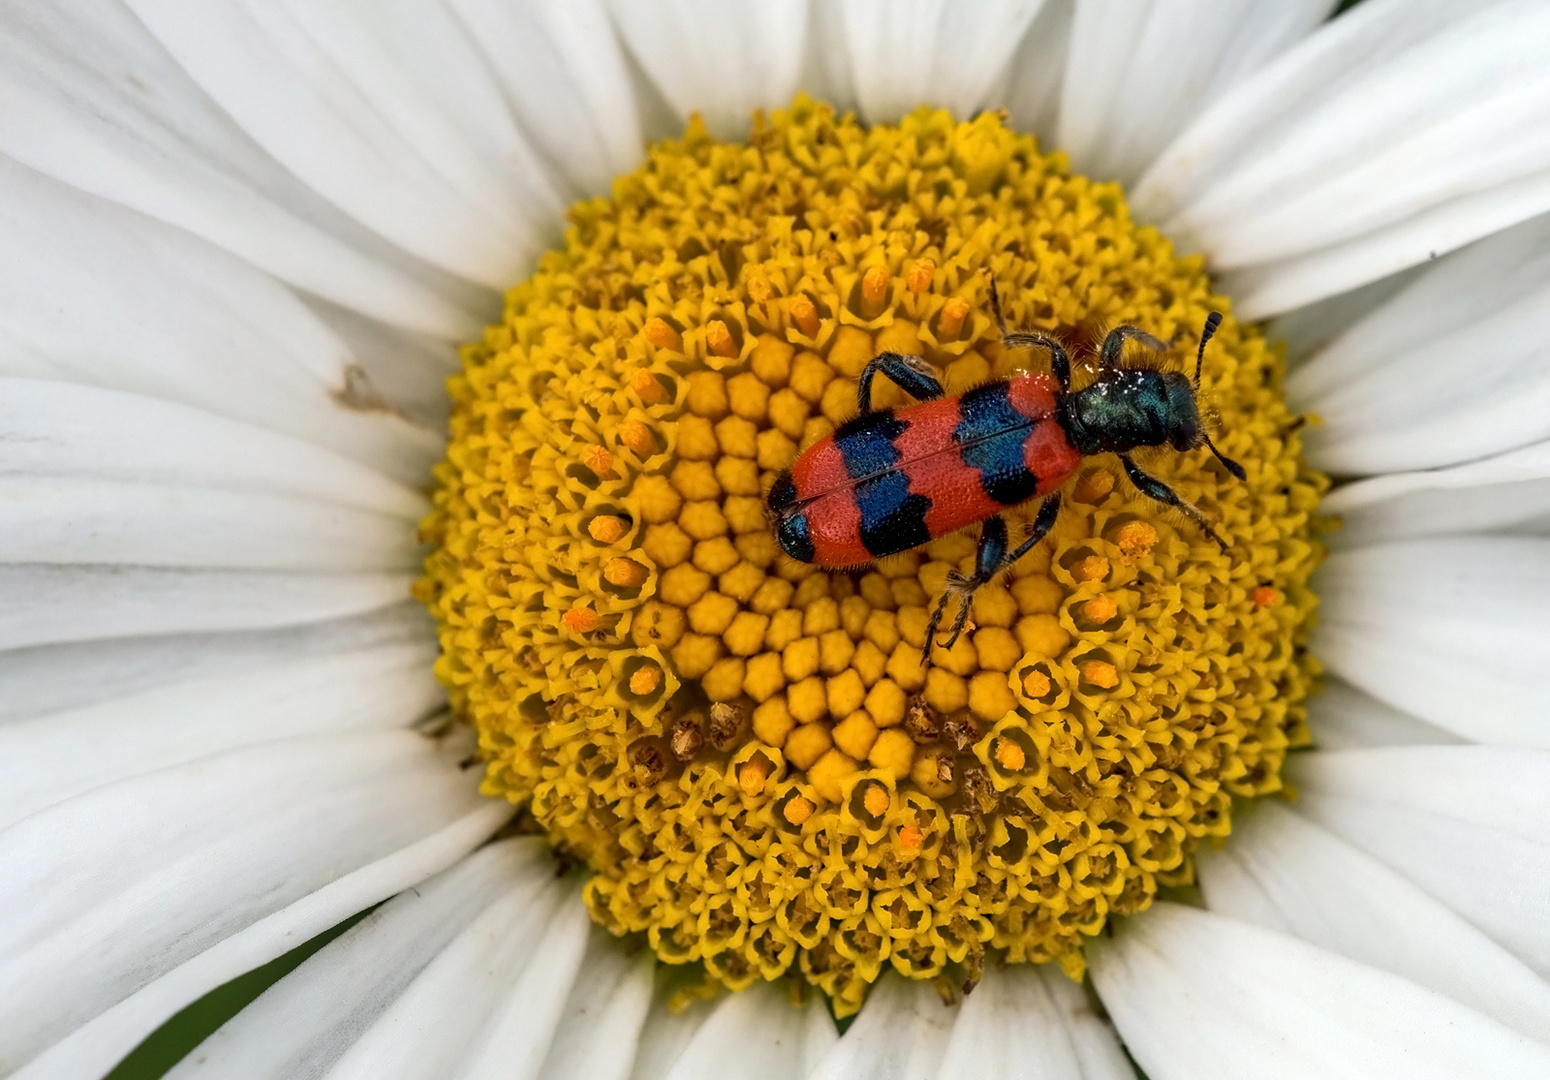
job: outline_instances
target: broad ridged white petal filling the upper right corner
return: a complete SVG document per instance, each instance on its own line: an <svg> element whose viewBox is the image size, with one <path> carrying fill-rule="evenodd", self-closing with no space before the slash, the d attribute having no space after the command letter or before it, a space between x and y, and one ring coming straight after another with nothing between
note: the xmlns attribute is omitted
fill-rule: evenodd
<svg viewBox="0 0 1550 1080"><path fill-rule="evenodd" d="M1260 319L1550 208L1550 9L1369 0L1195 119L1132 197Z"/></svg>

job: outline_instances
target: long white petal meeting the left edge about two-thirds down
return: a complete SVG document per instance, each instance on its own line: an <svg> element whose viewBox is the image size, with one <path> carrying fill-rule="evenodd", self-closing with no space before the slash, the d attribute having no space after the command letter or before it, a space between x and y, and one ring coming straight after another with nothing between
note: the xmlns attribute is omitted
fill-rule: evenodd
<svg viewBox="0 0 1550 1080"><path fill-rule="evenodd" d="M406 727L443 702L436 640L321 654L0 725L0 829L93 787L243 745Z"/></svg>

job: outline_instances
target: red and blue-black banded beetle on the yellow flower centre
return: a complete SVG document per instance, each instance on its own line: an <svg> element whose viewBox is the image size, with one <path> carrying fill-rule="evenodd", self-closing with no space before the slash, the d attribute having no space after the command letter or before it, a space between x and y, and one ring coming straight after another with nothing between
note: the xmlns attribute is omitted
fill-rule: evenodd
<svg viewBox="0 0 1550 1080"><path fill-rule="evenodd" d="M1124 367L1121 353L1127 341L1159 352L1167 346L1138 327L1121 325L1104 338L1097 378L1073 390L1065 347L1043 333L1008 332L995 282L990 282L990 310L1004 346L1049 352L1049 375L1021 372L946 397L936 370L921 356L879 353L862 370L859 414L804 449L766 496L786 555L829 569L862 566L984 522L973 573L949 575L927 626L927 641L933 641L947 603L958 598L949 637L939 643L947 649L964 629L975 590L1054 527L1060 513L1057 488L1080 468L1082 459L1118 454L1125 476L1142 494L1184 513L1223 552L1226 541L1206 516L1144 473L1130 451L1209 446L1232 476L1245 479L1243 466L1211 442L1197 406L1200 364L1221 325L1218 311L1206 318L1194 378ZM877 375L887 375L918 404L874 409L871 386ZM1037 497L1043 504L1032 530L1012 549L1000 514Z"/></svg>

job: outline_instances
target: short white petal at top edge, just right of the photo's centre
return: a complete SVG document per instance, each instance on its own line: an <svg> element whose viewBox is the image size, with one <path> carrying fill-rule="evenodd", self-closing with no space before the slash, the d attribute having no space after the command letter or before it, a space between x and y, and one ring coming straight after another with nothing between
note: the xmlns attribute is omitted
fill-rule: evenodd
<svg viewBox="0 0 1550 1080"><path fill-rule="evenodd" d="M969 119L1004 81L1045 0L845 0L846 70L862 118L894 122L916 105Z"/></svg>

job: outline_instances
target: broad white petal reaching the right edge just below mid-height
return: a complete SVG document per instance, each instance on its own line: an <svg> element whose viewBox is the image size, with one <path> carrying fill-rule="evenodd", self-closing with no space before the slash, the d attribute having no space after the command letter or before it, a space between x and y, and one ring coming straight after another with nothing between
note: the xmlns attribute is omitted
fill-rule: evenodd
<svg viewBox="0 0 1550 1080"><path fill-rule="evenodd" d="M1341 679L1472 742L1550 747L1550 539L1358 547L1314 583L1313 649Z"/></svg>

